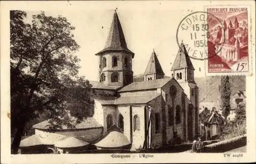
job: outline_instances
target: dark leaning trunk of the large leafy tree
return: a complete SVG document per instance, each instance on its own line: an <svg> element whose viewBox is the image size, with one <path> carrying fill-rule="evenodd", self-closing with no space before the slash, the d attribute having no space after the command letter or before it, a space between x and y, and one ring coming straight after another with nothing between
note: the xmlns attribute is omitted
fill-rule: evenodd
<svg viewBox="0 0 256 164"><path fill-rule="evenodd" d="M18 153L18 148L19 148L20 141L22 139L24 128L25 128L25 121L23 123L19 123L19 125L17 126L17 130L11 145L12 154Z"/></svg>

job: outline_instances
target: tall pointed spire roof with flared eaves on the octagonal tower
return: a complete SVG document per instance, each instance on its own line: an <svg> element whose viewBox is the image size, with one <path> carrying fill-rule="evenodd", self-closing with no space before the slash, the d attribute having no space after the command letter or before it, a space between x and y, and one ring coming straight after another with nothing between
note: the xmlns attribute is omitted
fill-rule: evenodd
<svg viewBox="0 0 256 164"><path fill-rule="evenodd" d="M106 40L105 47L103 50L101 50L97 54L103 53L105 51L120 51L120 50L131 53L134 57L134 53L127 48L126 41L123 35L122 26L118 19L117 12L115 10L113 21L109 31L109 36L108 36L108 39Z"/></svg>

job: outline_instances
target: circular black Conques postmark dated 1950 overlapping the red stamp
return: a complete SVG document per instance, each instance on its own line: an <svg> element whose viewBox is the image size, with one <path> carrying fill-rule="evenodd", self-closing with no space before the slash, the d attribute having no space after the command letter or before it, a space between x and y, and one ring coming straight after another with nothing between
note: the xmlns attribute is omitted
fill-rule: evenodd
<svg viewBox="0 0 256 164"><path fill-rule="evenodd" d="M190 58L206 60L217 55L224 44L225 33L219 18L208 12L193 12L185 16L177 29L178 46L185 46ZM215 45L218 44L216 49ZM184 50L180 47L180 50Z"/></svg>

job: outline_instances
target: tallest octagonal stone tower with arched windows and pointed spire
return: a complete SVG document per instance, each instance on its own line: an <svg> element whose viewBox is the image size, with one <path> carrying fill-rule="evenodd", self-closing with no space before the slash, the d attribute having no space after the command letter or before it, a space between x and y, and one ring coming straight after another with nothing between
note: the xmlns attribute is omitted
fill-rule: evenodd
<svg viewBox="0 0 256 164"><path fill-rule="evenodd" d="M134 53L127 48L116 10L105 47L96 56L99 57L100 82L117 87L133 82Z"/></svg>

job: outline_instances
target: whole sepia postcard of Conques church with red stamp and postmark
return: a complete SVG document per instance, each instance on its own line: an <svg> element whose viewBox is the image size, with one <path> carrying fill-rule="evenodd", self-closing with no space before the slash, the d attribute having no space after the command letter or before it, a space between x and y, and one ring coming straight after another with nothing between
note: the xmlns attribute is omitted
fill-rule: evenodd
<svg viewBox="0 0 256 164"><path fill-rule="evenodd" d="M253 140L255 7L206 2L200 10L185 1L6 10L11 157L243 158Z"/></svg>

